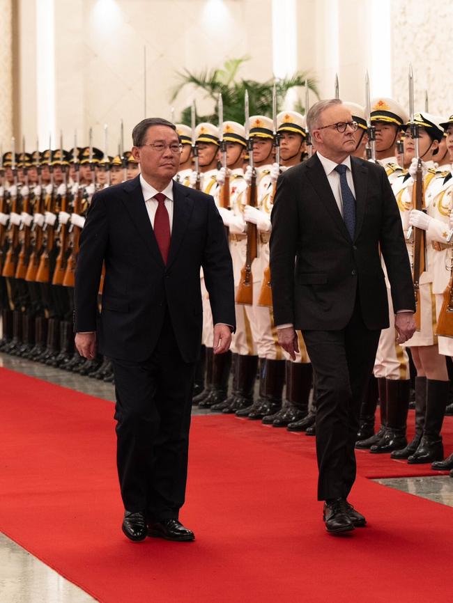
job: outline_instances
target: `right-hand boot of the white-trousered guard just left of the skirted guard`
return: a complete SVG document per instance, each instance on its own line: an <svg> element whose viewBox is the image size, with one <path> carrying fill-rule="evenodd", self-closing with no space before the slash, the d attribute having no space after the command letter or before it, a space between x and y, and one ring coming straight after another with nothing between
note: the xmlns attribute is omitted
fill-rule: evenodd
<svg viewBox="0 0 453 603"><path fill-rule="evenodd" d="M407 446L409 397L409 379L387 379L387 429L378 444L371 446L371 453L390 453Z"/></svg>

